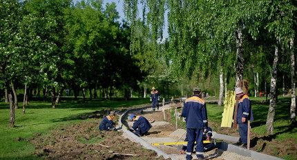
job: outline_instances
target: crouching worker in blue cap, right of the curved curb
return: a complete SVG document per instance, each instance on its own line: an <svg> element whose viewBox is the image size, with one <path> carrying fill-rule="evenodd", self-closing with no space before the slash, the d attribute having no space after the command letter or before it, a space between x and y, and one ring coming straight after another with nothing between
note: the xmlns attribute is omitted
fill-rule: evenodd
<svg viewBox="0 0 297 160"><path fill-rule="evenodd" d="M147 134L148 130L151 129L151 123L149 123L148 120L142 116L135 116L135 114L131 114L128 119L129 121L134 121L130 131L135 131L134 133L137 136L144 136Z"/></svg>

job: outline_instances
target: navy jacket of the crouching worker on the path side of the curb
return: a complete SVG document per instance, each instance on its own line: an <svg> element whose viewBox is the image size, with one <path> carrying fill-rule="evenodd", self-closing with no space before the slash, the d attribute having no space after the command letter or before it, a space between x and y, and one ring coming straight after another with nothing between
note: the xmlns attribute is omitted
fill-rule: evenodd
<svg viewBox="0 0 297 160"><path fill-rule="evenodd" d="M137 116L136 121L134 121L132 128L139 134L144 134L148 132L149 129L151 129L151 123L149 123L146 118L142 116Z"/></svg>

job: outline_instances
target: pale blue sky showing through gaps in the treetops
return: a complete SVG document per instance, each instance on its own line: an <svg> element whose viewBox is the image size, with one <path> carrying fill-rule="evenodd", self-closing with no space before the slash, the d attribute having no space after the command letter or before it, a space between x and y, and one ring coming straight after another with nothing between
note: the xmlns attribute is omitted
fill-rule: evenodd
<svg viewBox="0 0 297 160"><path fill-rule="evenodd" d="M77 2L80 0L73 0L73 2ZM103 0L104 6L106 3L116 3L117 4L117 12L119 12L119 21L122 22L123 19L125 19L125 14L124 14L124 0ZM141 10L142 6L138 4L138 10ZM140 17L142 17L142 12L140 13ZM165 21L164 21L164 28L163 28L163 40L168 38L168 21L167 21L167 14L164 15Z"/></svg>

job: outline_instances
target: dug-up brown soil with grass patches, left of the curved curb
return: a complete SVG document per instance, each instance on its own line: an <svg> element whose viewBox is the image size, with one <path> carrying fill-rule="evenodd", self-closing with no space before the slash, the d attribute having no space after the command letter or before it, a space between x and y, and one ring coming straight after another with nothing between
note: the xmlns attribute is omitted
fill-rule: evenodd
<svg viewBox="0 0 297 160"><path fill-rule="evenodd" d="M45 159L163 159L124 139L121 132L99 131L98 124L99 119L91 119L39 134L32 139L35 154Z"/></svg>

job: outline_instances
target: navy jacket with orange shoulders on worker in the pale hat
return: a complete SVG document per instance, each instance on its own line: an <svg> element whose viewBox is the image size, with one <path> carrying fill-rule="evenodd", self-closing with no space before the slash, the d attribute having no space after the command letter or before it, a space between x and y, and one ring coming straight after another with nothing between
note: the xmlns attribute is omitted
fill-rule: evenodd
<svg viewBox="0 0 297 160"><path fill-rule="evenodd" d="M253 121L253 112L251 111L251 101L249 101L249 97L245 94L238 103L238 110L237 110L237 123L242 123L241 118L247 118L247 121ZM247 123L245 121L245 123Z"/></svg>

